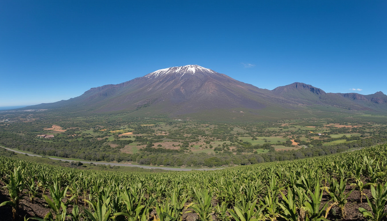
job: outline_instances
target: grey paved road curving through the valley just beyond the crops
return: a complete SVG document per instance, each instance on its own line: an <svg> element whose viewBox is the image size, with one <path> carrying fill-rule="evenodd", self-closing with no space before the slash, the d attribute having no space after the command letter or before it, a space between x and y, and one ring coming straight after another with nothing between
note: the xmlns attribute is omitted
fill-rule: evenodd
<svg viewBox="0 0 387 221"><path fill-rule="evenodd" d="M0 146L1 147L1 146ZM7 149L9 151L13 151L19 154L26 154L21 151L16 151L13 149L9 149L7 147L3 147L4 149ZM41 155L37 154L29 154L28 156L36 156L36 157L42 157ZM135 164L125 164L125 163L104 163L104 162L92 162L92 161L76 161L76 160L70 160L70 159L59 159L59 158L53 158L53 157L47 157L49 159L54 160L60 160L60 161L68 161L68 162L80 162L80 163L94 163L94 164L103 164L103 165L112 165L112 166L133 166L133 167L140 167L145 169L162 169L162 170L175 170L175 171L190 171L190 170L219 170L223 168L212 168L212 169L188 169L188 168L171 168L171 167L158 167L158 166L143 166L143 165L135 165Z"/></svg>

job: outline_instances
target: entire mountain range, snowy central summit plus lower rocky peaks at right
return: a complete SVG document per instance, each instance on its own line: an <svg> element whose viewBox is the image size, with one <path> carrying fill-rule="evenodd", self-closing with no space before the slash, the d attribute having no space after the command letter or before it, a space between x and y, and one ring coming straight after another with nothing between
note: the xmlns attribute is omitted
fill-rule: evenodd
<svg viewBox="0 0 387 221"><path fill-rule="evenodd" d="M342 110L387 109L387 96L356 93L325 93L295 82L273 89L260 89L198 65L170 67L121 84L94 87L66 101L28 108L61 108L74 113L167 114L244 113L255 116L290 117L292 112L311 112L313 106ZM283 113L282 113L283 112ZM229 116L232 117L232 116Z"/></svg>

